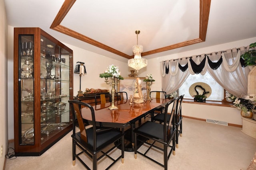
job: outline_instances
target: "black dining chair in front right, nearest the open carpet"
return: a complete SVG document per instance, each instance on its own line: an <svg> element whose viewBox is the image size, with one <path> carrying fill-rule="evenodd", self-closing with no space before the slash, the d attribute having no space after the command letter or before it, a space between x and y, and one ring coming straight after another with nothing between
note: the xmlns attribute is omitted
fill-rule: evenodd
<svg viewBox="0 0 256 170"><path fill-rule="evenodd" d="M165 111L164 111L164 123L156 123L152 121L146 121L139 127L137 127L134 130L134 157L137 158L137 152L141 154L142 156L148 158L149 160L152 160L153 162L157 163L158 165L164 167L165 170L167 170L167 162L170 158L171 153L175 155L175 135L176 135L176 127L175 127L175 101L177 98L171 100L165 105ZM168 110L171 113L168 113ZM167 119L167 115L170 114L170 120ZM138 136L142 136L146 139L149 139L148 141L140 140L141 138ZM146 144L148 146L148 149L145 152L140 152L137 150L137 143L138 141ZM172 144L170 144L172 141ZM159 147L159 145L156 144L162 144L163 147ZM159 149L164 154L164 164L156 161L155 158L152 156L148 156L147 153L150 149ZM168 148L170 149L168 153Z"/></svg>

